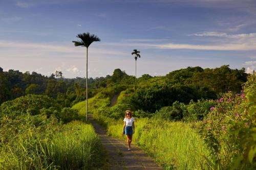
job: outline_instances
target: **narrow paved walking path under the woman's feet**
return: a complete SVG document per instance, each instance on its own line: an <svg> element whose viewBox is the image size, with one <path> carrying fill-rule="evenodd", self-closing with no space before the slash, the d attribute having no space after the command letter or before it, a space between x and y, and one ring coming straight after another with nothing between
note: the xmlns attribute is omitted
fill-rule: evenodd
<svg viewBox="0 0 256 170"><path fill-rule="evenodd" d="M132 150L127 151L127 144L124 140L107 136L100 125L92 119L92 116L88 117L108 152L110 169L162 169L135 145L132 144Z"/></svg>

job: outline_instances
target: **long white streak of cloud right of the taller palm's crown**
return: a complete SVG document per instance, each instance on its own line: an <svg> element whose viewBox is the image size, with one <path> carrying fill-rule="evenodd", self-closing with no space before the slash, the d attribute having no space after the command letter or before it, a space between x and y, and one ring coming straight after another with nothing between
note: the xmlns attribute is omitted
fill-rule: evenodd
<svg viewBox="0 0 256 170"><path fill-rule="evenodd" d="M168 39L128 39L116 43L105 43L113 46L136 46L140 48L159 48L159 49L189 49L189 50L216 50L216 51L256 51L256 33L249 34L226 34L220 32L195 33L188 36L200 36L204 38L220 37L210 39L204 44L182 44L182 43L160 43ZM205 40L205 38L204 38ZM147 43L145 43L147 42Z"/></svg>

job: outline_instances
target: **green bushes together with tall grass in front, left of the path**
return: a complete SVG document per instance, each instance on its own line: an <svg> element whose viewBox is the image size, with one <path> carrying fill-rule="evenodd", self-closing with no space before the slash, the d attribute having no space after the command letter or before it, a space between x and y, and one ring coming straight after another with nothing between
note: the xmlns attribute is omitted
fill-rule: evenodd
<svg viewBox="0 0 256 170"><path fill-rule="evenodd" d="M0 169L91 169L102 162L91 125L47 95L29 94L0 106ZM67 124L68 123L68 124Z"/></svg>

